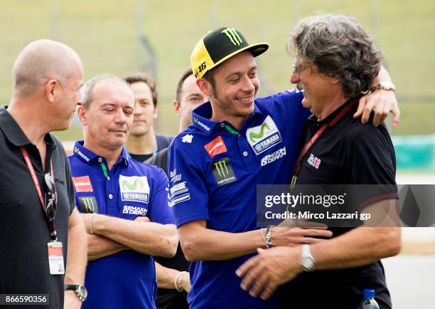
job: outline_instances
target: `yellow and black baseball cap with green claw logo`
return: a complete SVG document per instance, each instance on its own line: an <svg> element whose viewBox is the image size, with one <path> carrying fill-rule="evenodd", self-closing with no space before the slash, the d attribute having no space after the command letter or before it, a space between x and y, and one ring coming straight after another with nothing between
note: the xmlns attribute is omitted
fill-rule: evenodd
<svg viewBox="0 0 435 309"><path fill-rule="evenodd" d="M268 48L269 43L249 44L235 28L222 27L208 32L200 39L190 55L190 66L195 77L201 78L237 53L250 51L252 56L257 57Z"/></svg>

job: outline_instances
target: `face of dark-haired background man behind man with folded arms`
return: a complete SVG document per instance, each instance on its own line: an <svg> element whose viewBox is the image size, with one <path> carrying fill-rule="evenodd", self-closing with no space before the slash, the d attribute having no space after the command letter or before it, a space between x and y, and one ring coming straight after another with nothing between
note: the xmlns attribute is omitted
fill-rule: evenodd
<svg viewBox="0 0 435 309"><path fill-rule="evenodd" d="M134 95L134 122L131 127L132 136L142 136L149 132L157 118L157 108L153 103L153 95L149 85L144 82L130 84Z"/></svg>

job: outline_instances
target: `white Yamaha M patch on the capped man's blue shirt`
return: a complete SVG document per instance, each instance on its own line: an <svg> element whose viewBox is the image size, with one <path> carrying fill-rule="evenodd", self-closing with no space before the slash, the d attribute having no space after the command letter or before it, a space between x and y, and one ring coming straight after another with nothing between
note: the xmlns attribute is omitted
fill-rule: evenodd
<svg viewBox="0 0 435 309"><path fill-rule="evenodd" d="M269 150L282 141L281 133L279 133L278 127L270 115L264 119L261 125L249 127L246 130L246 138L256 155Z"/></svg>

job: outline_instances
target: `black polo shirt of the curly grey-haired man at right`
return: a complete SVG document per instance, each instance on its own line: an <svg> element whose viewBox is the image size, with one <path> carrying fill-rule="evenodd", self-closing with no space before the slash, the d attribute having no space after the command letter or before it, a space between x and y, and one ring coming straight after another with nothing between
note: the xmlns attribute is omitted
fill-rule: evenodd
<svg viewBox="0 0 435 309"><path fill-rule="evenodd" d="M301 159L296 184L395 184L396 159L387 128L373 126L371 119L363 125L360 118L353 118L357 108L358 103L349 100L323 121L314 115L308 118L300 149L324 124L331 124L334 119L335 122ZM394 186L388 188L391 187ZM375 191L359 192L360 200L370 199L372 204L397 197L395 191ZM331 228L331 231L338 236L350 229ZM292 309L328 309L357 308L365 288L375 290L380 308L391 308L380 261L357 268L302 273L283 290L288 291L286 295L294 295L289 303Z"/></svg>

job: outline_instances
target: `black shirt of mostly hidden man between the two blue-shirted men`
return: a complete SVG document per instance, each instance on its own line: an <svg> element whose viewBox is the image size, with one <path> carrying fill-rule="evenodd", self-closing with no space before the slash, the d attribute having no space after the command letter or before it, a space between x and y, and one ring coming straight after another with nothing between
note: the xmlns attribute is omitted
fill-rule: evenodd
<svg viewBox="0 0 435 309"><path fill-rule="evenodd" d="M156 155L147 159L144 163L161 167L168 175L168 147L160 150ZM169 179L171 181L171 178ZM157 263L167 268L173 268L177 271L188 271L190 263L186 261L183 251L181 251L180 243L178 243L176 255L173 258L163 258L162 256L154 256ZM187 293L185 291L168 288L158 288L156 298L157 309L188 309Z"/></svg>

